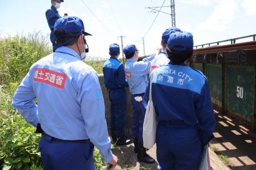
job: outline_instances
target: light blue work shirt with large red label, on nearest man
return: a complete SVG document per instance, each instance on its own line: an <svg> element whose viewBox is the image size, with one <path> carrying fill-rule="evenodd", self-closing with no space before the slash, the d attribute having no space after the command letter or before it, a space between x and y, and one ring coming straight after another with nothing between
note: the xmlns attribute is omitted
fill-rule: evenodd
<svg viewBox="0 0 256 170"><path fill-rule="evenodd" d="M102 157L107 162L112 160L97 73L74 50L59 47L33 64L17 88L12 106L31 125L40 122L50 136L91 139Z"/></svg>

